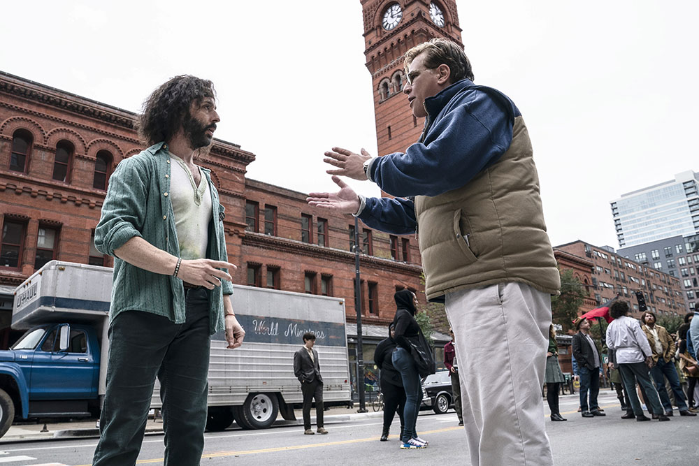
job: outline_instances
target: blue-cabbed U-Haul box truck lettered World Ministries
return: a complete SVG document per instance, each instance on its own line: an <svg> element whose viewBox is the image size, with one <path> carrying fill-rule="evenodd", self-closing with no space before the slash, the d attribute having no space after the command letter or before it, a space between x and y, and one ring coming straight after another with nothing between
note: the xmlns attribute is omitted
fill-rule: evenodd
<svg viewBox="0 0 699 466"><path fill-rule="evenodd" d="M344 300L233 289L233 308L247 334L235 350L226 349L223 332L212 337L208 430L223 430L233 421L246 429L267 428L278 414L295 418L303 395L293 359L307 330L316 333L316 349L327 361L326 405L351 403ZM111 291L112 269L60 261L50 261L17 287L12 328L26 333L0 351L0 437L15 419L99 414ZM151 407L161 407L157 385Z"/></svg>

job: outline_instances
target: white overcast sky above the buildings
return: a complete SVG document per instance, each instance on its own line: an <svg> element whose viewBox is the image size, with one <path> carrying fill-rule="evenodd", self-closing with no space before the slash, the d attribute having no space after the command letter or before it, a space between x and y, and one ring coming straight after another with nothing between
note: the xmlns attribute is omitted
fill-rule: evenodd
<svg viewBox="0 0 699 466"><path fill-rule="evenodd" d="M553 245L616 249L610 201L698 168L699 2L458 6L475 81L524 115ZM359 0L12 1L0 70L134 112L173 75L208 78L248 177L322 191L325 150L376 154L362 34Z"/></svg>

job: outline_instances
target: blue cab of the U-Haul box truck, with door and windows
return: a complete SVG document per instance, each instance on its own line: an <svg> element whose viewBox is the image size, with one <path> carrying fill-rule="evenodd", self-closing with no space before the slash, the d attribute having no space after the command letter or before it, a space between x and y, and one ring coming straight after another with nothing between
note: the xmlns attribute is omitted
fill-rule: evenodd
<svg viewBox="0 0 699 466"><path fill-rule="evenodd" d="M94 329L48 323L0 351L0 436L15 416L90 416L97 403L100 351Z"/></svg>

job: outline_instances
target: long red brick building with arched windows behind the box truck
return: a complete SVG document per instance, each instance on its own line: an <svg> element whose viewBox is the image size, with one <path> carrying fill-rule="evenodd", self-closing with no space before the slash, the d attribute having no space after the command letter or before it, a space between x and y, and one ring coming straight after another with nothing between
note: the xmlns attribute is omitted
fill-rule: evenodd
<svg viewBox="0 0 699 466"><path fill-rule="evenodd" d="M0 73L0 346L15 286L51 259L113 265L92 246L109 175L142 145L131 112ZM352 217L309 207L305 194L245 177L254 154L215 140L210 168L226 207L236 283L345 298L354 320ZM361 224L360 224L361 225ZM421 289L414 237L361 228L367 323L393 319L397 288ZM423 298L424 300L424 298Z"/></svg>

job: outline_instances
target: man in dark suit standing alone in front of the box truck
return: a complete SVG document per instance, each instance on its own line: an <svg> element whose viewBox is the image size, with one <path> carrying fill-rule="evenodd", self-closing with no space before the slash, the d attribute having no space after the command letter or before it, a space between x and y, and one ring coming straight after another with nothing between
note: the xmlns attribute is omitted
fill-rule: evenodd
<svg viewBox="0 0 699 466"><path fill-rule="evenodd" d="M303 334L303 347L294 353L294 375L301 382L303 393L303 433L313 435L310 428L310 407L315 398L315 416L318 425L318 433L326 434L323 427L323 377L320 374L318 351L313 349L315 335L307 332Z"/></svg>

